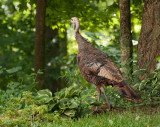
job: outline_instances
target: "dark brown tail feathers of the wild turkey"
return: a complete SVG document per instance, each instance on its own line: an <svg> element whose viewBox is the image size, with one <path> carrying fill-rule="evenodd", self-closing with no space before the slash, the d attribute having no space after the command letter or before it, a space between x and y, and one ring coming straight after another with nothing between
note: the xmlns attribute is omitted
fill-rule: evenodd
<svg viewBox="0 0 160 127"><path fill-rule="evenodd" d="M134 91L132 87L127 85L124 81L119 85L115 85L114 87L117 88L119 93L126 99L132 100L137 103L142 102L141 97Z"/></svg>

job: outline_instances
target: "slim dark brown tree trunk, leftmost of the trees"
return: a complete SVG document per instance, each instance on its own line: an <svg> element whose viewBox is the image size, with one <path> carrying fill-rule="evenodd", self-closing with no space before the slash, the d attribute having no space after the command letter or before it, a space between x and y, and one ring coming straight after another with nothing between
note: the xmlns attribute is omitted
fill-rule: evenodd
<svg viewBox="0 0 160 127"><path fill-rule="evenodd" d="M46 0L37 0L36 8L36 41L35 41L35 72L41 70L43 74L37 74L38 89L44 89L45 66L45 12Z"/></svg>

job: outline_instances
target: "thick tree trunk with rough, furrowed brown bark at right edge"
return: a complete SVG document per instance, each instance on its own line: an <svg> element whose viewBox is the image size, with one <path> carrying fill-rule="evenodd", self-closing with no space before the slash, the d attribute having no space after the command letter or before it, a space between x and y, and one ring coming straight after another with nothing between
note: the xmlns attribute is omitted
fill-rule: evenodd
<svg viewBox="0 0 160 127"><path fill-rule="evenodd" d="M160 56L160 0L147 0L143 7L142 28L138 43L138 69L147 69L142 80L156 69Z"/></svg>

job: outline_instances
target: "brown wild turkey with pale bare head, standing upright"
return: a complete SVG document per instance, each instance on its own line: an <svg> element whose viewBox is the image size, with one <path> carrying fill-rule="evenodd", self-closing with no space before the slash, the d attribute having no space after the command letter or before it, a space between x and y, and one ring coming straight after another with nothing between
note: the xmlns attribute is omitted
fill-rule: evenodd
<svg viewBox="0 0 160 127"><path fill-rule="evenodd" d="M120 70L109 56L93 47L81 36L79 33L79 19L73 17L71 23L73 23L75 38L78 43L78 67L83 77L88 82L96 85L97 101L100 101L100 95L101 92L103 92L108 107L110 108L111 105L107 98L104 86L112 85L117 88L120 94L126 99L141 102L141 97L123 80Z"/></svg>

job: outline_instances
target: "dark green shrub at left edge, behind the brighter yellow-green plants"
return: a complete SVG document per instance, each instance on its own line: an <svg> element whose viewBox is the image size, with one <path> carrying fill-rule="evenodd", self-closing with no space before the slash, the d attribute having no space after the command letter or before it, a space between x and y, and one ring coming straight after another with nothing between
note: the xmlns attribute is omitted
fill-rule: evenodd
<svg viewBox="0 0 160 127"><path fill-rule="evenodd" d="M0 66L0 83L5 88L0 89L0 104L5 105L12 97L21 97L24 91L36 92L35 73L25 74L22 67L6 69ZM5 85L4 85L5 84Z"/></svg>

